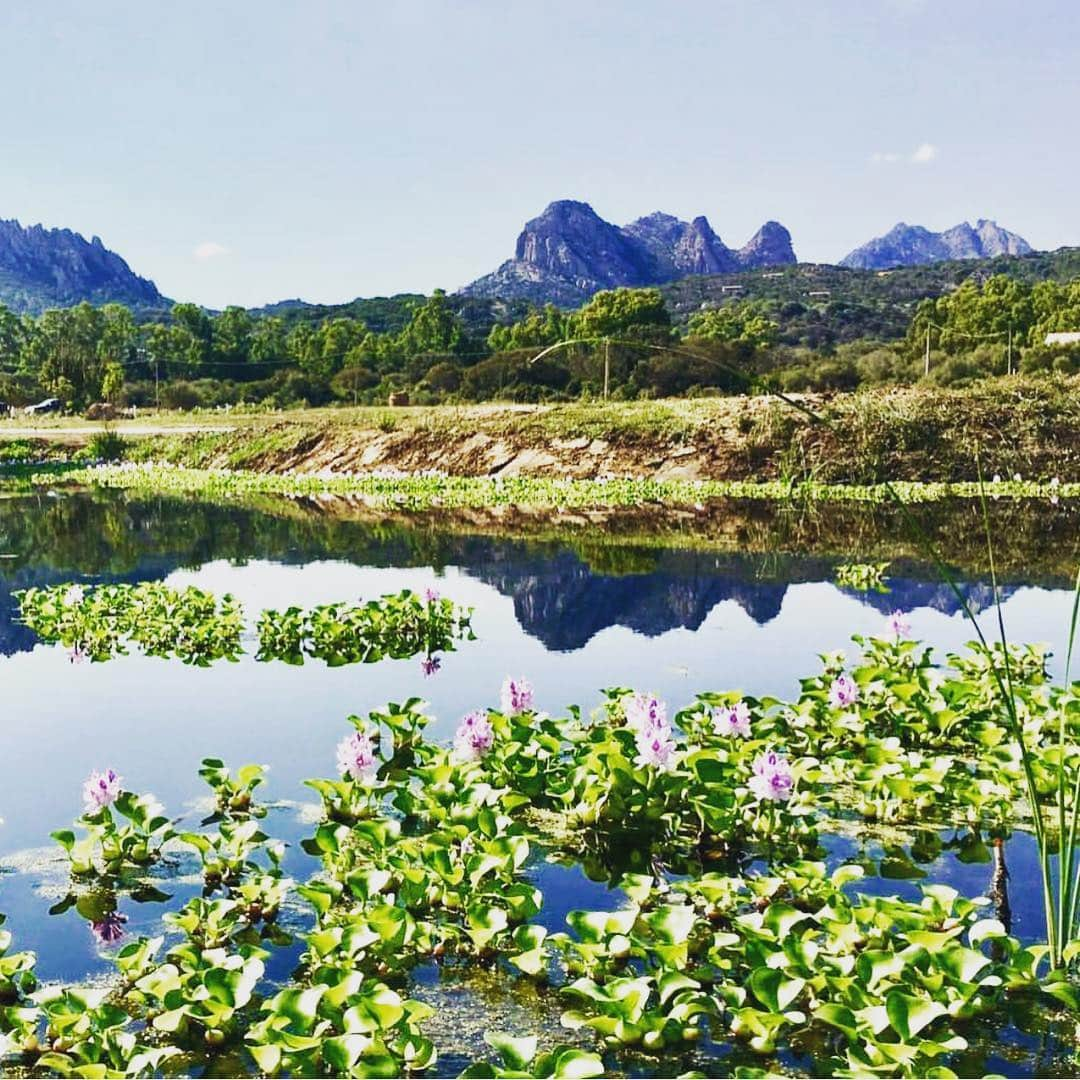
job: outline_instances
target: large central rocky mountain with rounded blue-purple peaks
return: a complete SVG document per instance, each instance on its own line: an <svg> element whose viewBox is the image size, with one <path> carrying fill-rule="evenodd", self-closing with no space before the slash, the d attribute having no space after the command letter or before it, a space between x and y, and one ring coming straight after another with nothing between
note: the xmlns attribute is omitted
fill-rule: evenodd
<svg viewBox="0 0 1080 1080"><path fill-rule="evenodd" d="M658 212L620 228L589 203L564 199L525 224L512 259L460 292L575 308L604 288L793 262L791 233L778 221L733 251L704 217L683 221Z"/></svg>

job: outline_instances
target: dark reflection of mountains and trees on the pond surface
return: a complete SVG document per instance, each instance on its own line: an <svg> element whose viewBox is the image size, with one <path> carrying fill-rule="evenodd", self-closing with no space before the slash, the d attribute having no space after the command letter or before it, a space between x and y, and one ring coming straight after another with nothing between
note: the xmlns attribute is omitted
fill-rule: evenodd
<svg viewBox="0 0 1080 1080"><path fill-rule="evenodd" d="M762 625L779 617L793 585L832 581L837 563L851 557L633 543L599 550L595 539L583 545L512 540L430 525L296 516L289 503L274 507L275 516L243 507L129 499L120 492L38 496L0 505L0 553L8 556L0 563L0 653L5 656L35 645L32 633L15 620L11 593L17 589L73 577L160 580L217 559L241 565L255 558L285 565L346 558L370 567L454 566L511 597L521 627L548 649L565 651L583 648L612 626L647 637L676 629L697 631L726 600ZM294 513L280 515L283 505ZM833 513L850 516L851 510L822 509L819 518ZM862 513L873 517L879 509ZM1034 570L1025 580L1037 580ZM1055 583L1065 586L1063 580ZM1007 584L1002 594L1015 588ZM991 603L985 577L962 577L961 591L975 611ZM954 615L960 608L933 566L910 558L891 571L888 593L849 595L882 613L899 607Z"/></svg>

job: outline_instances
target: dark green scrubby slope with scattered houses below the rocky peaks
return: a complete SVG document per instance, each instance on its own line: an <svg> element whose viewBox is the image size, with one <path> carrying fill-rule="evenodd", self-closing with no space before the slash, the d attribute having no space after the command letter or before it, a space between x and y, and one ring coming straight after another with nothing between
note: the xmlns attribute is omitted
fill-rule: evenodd
<svg viewBox="0 0 1080 1080"><path fill-rule="evenodd" d="M998 273L1028 283L1072 281L1080 278L1080 247L895 270L800 262L764 272L685 278L661 292L679 326L702 308L755 300L780 324L783 342L821 348L859 338L903 337L923 297L942 296L969 278L983 281Z"/></svg>

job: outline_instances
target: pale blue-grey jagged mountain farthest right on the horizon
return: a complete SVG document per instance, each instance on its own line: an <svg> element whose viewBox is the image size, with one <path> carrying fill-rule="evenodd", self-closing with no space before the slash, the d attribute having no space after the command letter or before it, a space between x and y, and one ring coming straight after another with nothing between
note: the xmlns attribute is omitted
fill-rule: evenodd
<svg viewBox="0 0 1080 1080"><path fill-rule="evenodd" d="M974 225L961 221L944 232L931 232L921 225L901 221L883 237L850 252L840 259L840 266L853 270L888 270L949 259L986 259L1030 253L1031 245L1023 237L985 218Z"/></svg>

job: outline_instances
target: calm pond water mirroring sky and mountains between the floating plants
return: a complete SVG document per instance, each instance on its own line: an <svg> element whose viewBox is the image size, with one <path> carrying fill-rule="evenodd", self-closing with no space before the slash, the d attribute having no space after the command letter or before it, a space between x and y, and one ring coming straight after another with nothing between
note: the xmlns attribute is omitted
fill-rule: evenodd
<svg viewBox="0 0 1080 1080"><path fill-rule="evenodd" d="M436 717L429 733L449 735L464 712L496 703L507 674L527 677L538 707L550 712L571 703L588 711L609 686L652 690L673 707L706 689L793 694L799 677L818 670L819 652L853 648L855 633L881 632L895 608L908 612L914 636L942 657L972 636L956 598L932 567L917 561L896 564L886 594L837 588L838 562L880 554L873 529L855 531L865 550L849 545L852 530L841 528L825 552L627 544L618 557L597 559L583 554L595 550L595 537L583 546L578 540L474 535L460 524L448 529L430 521L409 527L324 519L298 514L295 504L286 512L273 504L219 508L99 492L0 501L0 910L16 946L37 951L45 980L109 970L75 910L49 914L64 906L58 902L66 892L49 834L79 814L81 783L95 768L114 768L126 787L154 793L171 814L185 815L186 827L197 827L203 757L269 766L260 794L281 806L266 827L291 841L287 868L302 877L313 867L296 845L311 828L311 793L302 781L332 774L351 713L417 696ZM959 579L990 630L987 580L970 569ZM261 608L433 586L475 608L477 639L445 656L431 677L418 660L328 669L310 660L302 666L257 663L247 654L197 669L133 654L72 663L63 647L39 643L18 623L11 595L69 580L194 583L232 593L251 623ZM1064 575L1055 567L1028 573L1014 567L1004 596L1014 640L1049 642L1064 651L1072 600ZM253 638L248 648L254 653ZM825 848L836 863L862 861L876 872L879 878L862 886L872 891L913 896L923 878L970 895L990 885L984 838L937 837L914 854L910 846L888 848L858 835L832 837ZM1027 837L1014 836L1005 854L1014 882L1035 880ZM156 932L161 913L195 892L185 870L193 874L194 867L181 865L161 880L167 903L152 894L145 903L123 899L129 934ZM579 868L538 862L534 874L551 929L563 929L572 907L618 903L606 883ZM1011 914L1013 933L1039 936L1036 890L1014 887ZM284 977L295 958L279 957L271 973ZM1039 1066L1029 1061L1010 1068L1032 1072Z"/></svg>

